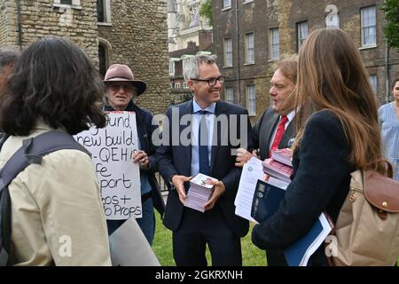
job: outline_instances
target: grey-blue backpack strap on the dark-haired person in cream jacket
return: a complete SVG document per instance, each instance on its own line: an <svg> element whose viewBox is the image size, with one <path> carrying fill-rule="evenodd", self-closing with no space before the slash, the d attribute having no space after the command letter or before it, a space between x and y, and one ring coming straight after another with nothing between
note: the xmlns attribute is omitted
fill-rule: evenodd
<svg viewBox="0 0 399 284"><path fill-rule="evenodd" d="M0 149L7 138L7 134L3 134L0 138ZM71 135L59 130L51 130L35 138L23 140L22 146L0 170L0 266L9 264L11 248L11 199L8 185L29 164L41 164L44 155L62 149L75 149L90 156L90 152Z"/></svg>

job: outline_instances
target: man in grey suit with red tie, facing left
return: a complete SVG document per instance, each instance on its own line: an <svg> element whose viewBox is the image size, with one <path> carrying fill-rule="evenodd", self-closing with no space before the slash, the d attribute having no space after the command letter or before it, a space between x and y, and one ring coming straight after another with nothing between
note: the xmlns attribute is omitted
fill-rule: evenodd
<svg viewBox="0 0 399 284"><path fill-rule="evenodd" d="M268 107L252 128L254 149L258 149L263 161L270 157L270 151L289 147L295 137L293 110L293 88L296 83L297 59L289 58L278 62L278 69L270 80L270 97L273 105ZM236 166L242 167L253 154L239 149ZM269 266L285 266L286 258L281 250L267 251Z"/></svg>

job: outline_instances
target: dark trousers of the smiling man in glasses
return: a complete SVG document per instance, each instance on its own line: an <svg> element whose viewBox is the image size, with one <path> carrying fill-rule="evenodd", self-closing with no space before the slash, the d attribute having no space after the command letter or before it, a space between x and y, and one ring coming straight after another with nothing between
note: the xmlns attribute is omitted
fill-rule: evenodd
<svg viewBox="0 0 399 284"><path fill-rule="evenodd" d="M173 232L173 256L177 266L206 266L206 245L213 266L241 266L241 241L231 232L217 206L201 213L184 207L182 221Z"/></svg>

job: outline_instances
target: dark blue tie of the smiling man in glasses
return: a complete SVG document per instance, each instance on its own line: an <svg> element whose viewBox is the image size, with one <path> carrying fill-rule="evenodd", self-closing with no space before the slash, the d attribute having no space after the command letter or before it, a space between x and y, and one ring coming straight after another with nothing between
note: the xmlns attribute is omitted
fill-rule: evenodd
<svg viewBox="0 0 399 284"><path fill-rule="evenodd" d="M207 151L207 120L206 120L207 113L208 112L206 110L200 110L198 112L198 114L201 115L200 127L198 131L198 139L199 139L198 145L199 145L200 173L209 176L210 167L209 167L209 156Z"/></svg>

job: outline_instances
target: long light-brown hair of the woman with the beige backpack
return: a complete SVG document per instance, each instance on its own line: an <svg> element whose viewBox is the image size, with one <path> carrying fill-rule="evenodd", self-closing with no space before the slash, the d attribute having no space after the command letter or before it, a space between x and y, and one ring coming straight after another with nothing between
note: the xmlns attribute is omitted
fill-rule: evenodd
<svg viewBox="0 0 399 284"><path fill-rule="evenodd" d="M294 149L310 114L329 110L340 119L348 140L348 162L357 169L386 172L377 101L355 43L344 31L321 28L309 35L299 54L295 92L300 111Z"/></svg>

